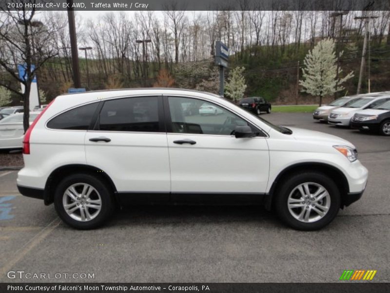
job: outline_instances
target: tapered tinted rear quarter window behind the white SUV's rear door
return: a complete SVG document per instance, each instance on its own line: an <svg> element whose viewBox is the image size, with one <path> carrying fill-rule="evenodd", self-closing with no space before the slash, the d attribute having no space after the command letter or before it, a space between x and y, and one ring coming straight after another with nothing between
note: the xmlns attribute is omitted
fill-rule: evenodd
<svg viewBox="0 0 390 293"><path fill-rule="evenodd" d="M99 103L88 104L66 111L47 124L52 129L87 130Z"/></svg>

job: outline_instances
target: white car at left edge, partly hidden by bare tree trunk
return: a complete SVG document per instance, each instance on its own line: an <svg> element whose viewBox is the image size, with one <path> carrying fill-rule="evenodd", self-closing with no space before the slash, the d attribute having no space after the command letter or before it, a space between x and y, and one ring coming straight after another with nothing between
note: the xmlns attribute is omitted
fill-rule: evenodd
<svg viewBox="0 0 390 293"><path fill-rule="evenodd" d="M30 125L39 112L30 112ZM9 115L0 120L0 149L23 147L23 113Z"/></svg>

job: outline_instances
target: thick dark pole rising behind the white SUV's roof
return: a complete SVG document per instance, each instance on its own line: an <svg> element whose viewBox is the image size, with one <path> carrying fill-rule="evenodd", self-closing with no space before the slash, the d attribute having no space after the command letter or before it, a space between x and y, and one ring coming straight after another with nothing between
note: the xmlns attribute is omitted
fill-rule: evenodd
<svg viewBox="0 0 390 293"><path fill-rule="evenodd" d="M68 10L68 22L69 22L70 47L72 52L73 83L76 88L79 88L81 87L81 83L80 83L80 71L78 68L75 11L72 8L73 0L66 0L66 2L68 3L67 10Z"/></svg>

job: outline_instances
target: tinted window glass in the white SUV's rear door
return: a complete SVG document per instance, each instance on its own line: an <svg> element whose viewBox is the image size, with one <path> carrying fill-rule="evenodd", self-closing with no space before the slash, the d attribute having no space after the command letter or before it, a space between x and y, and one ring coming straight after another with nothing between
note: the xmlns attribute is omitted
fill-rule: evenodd
<svg viewBox="0 0 390 293"><path fill-rule="evenodd" d="M104 102L100 131L160 132L157 97L133 97Z"/></svg>

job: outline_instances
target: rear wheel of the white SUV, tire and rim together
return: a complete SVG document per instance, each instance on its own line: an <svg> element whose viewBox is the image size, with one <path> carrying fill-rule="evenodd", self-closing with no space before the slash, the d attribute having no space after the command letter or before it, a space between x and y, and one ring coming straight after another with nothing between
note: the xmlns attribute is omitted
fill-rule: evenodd
<svg viewBox="0 0 390 293"><path fill-rule="evenodd" d="M65 177L54 195L59 217L76 229L94 229L111 215L114 203L104 181L90 174Z"/></svg>

